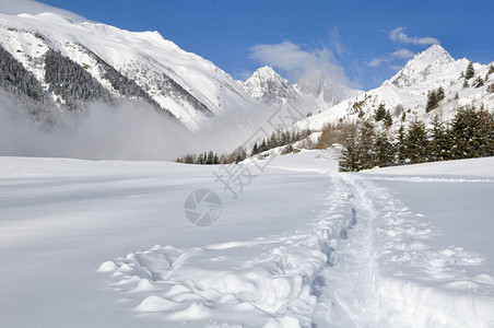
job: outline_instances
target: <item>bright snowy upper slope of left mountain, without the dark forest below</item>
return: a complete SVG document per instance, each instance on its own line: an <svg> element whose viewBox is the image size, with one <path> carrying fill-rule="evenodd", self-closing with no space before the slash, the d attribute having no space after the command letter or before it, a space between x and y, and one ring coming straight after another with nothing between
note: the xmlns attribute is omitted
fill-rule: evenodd
<svg viewBox="0 0 494 328"><path fill-rule="evenodd" d="M44 59L50 49L70 58L114 95L121 95L115 79L133 81L145 97L192 130L211 116L256 103L227 73L157 32L74 23L55 13L0 14L0 46L33 72L48 96L59 103L64 103L63 97L49 94L45 79Z"/></svg>

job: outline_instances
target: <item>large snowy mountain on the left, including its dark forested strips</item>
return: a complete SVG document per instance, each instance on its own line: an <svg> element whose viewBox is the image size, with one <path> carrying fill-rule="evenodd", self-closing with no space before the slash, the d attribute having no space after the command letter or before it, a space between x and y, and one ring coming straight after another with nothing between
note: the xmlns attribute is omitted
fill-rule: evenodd
<svg viewBox="0 0 494 328"><path fill-rule="evenodd" d="M17 92L31 97L35 89L69 109L87 101L142 98L198 130L212 116L256 104L227 73L157 32L74 23L55 13L0 14L0 49L3 67L22 65L3 89L33 80Z"/></svg>

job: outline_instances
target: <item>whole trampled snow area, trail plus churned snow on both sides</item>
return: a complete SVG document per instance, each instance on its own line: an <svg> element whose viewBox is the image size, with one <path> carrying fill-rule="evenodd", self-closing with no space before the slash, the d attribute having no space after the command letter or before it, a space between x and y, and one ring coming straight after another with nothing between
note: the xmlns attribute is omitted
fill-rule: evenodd
<svg viewBox="0 0 494 328"><path fill-rule="evenodd" d="M494 278L373 184L329 174L309 229L204 247L156 245L98 271L139 315L209 327L489 327Z"/></svg>

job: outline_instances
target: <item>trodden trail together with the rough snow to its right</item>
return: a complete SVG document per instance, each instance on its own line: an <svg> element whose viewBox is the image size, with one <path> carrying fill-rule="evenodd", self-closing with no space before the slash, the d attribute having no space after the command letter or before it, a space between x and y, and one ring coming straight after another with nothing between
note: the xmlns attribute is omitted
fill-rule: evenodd
<svg viewBox="0 0 494 328"><path fill-rule="evenodd" d="M490 327L492 272L485 258L461 247L435 248L439 232L390 190L344 175L354 196L356 227L338 242L338 265L322 271L320 326ZM472 270L474 268L474 270Z"/></svg>

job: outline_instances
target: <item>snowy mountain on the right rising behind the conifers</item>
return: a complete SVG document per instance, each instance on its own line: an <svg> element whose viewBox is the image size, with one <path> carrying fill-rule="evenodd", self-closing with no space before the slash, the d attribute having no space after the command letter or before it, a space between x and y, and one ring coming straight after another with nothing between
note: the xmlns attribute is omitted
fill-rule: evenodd
<svg viewBox="0 0 494 328"><path fill-rule="evenodd" d="M462 75L468 65L468 59L454 59L442 46L433 45L417 54L381 86L309 117L308 125L320 129L326 122L340 119L372 118L381 104L392 115L395 125L403 112L408 118L416 115L430 121L435 115L448 119L458 107L466 105L494 109L494 93L487 90L494 83L494 74L489 73L491 66L473 63L475 74L466 82ZM482 79L482 85L477 84L478 79ZM468 85L463 85L464 83ZM439 87L444 89L445 98L439 102L437 108L426 113L428 93Z"/></svg>

